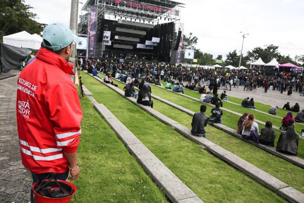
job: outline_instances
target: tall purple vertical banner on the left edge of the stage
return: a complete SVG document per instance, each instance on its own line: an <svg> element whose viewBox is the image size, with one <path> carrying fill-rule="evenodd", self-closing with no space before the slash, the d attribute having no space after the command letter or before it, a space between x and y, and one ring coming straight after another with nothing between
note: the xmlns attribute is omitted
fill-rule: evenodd
<svg viewBox="0 0 304 203"><path fill-rule="evenodd" d="M90 7L90 20L89 20L89 50L88 57L95 57L95 40L96 40L96 27L97 27L97 7Z"/></svg>

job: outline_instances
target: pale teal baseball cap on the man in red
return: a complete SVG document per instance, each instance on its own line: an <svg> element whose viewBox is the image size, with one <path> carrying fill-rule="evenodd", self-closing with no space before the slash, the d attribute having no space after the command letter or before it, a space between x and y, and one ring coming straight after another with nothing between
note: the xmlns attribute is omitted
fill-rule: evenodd
<svg viewBox="0 0 304 203"><path fill-rule="evenodd" d="M63 49L72 42L78 43L78 37L62 23L51 23L42 32L43 45L54 51Z"/></svg>

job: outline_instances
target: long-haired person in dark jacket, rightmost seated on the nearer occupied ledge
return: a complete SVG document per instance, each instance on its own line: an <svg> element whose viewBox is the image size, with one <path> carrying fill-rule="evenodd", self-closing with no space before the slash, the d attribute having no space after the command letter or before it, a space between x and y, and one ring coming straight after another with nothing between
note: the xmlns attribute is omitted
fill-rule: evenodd
<svg viewBox="0 0 304 203"><path fill-rule="evenodd" d="M293 127L288 126L287 131L282 131L280 134L277 151L296 156L298 144L298 134L294 131Z"/></svg>

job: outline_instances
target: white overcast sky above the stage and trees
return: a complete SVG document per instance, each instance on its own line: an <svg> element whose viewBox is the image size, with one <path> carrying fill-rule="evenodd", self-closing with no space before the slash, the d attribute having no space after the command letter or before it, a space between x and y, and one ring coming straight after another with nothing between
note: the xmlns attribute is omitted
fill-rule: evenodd
<svg viewBox="0 0 304 203"><path fill-rule="evenodd" d="M69 25L70 0L25 0L43 23ZM85 2L85 0L80 0ZM225 56L235 49L240 53L240 31L249 33L243 53L254 47L274 44L281 54L304 54L303 0L177 0L184 33L199 38L197 48ZM80 4L82 7L82 4ZM269 62L269 61L264 61Z"/></svg>

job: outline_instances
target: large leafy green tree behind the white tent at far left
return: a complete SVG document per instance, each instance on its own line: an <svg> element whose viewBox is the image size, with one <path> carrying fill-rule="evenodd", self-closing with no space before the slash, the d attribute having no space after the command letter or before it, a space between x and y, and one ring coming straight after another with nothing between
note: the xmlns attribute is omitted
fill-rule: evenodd
<svg viewBox="0 0 304 203"><path fill-rule="evenodd" d="M46 24L35 21L37 15L24 0L0 0L0 39L19 31L40 34Z"/></svg>

